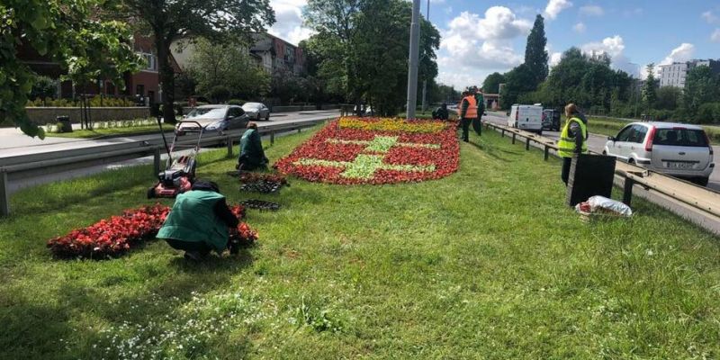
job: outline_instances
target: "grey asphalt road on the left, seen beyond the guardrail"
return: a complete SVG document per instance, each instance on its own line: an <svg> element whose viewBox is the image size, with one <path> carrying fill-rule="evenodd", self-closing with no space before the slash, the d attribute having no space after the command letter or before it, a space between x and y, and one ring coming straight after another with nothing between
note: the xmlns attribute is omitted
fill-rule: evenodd
<svg viewBox="0 0 720 360"><path fill-rule="evenodd" d="M337 117L339 115L338 110L332 111L307 111L307 112L282 112L277 114L271 114L270 121L257 121L257 127L263 128L269 125L282 124L285 122L297 122L297 121L317 121L321 119L328 119ZM291 131L294 133L295 131ZM275 137L282 136L283 134L276 134ZM0 165L3 163L4 157L14 157L27 154L38 154L44 152L52 152L58 150L66 150L71 148L93 148L97 146L119 144L123 142L141 141L148 139L159 139L160 134L148 134L139 136L120 137L112 139L63 139L63 138L46 138L44 140L32 139L24 135L20 130L15 129L0 129ZM172 134L168 137L168 141L172 139ZM236 147L237 148L237 147ZM202 148L201 151L207 150ZM186 150L186 152L191 150ZM236 149L237 153L237 149ZM165 166L166 155L162 156L161 164ZM136 166L142 164L152 164L153 157L139 157L127 161L122 161L114 164L105 164L98 166L88 166L75 170L68 170L58 173L51 173L39 176L33 176L30 178L24 178L23 180L11 181L8 184L9 193L28 187L31 185L49 184L55 181L67 180L75 177L81 177L86 175L93 175L107 170L119 169L126 166ZM230 170L230 169L229 169ZM152 185L148 182L148 186Z"/></svg>

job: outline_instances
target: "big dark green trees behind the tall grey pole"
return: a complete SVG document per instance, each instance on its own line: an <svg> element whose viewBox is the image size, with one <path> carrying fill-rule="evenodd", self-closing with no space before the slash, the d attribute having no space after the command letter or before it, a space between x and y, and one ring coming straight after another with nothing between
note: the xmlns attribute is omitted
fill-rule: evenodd
<svg viewBox="0 0 720 360"><path fill-rule="evenodd" d="M366 103L381 115L400 112L407 94L411 14L411 4L403 0L310 0L304 16L315 34L301 47L320 94ZM422 19L418 94L427 81L430 101L446 90L435 83L439 46L439 31Z"/></svg>

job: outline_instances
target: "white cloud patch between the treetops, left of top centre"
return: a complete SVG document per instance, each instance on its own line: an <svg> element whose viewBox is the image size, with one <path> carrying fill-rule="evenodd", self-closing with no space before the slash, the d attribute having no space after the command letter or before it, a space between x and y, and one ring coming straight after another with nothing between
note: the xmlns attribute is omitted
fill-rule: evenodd
<svg viewBox="0 0 720 360"><path fill-rule="evenodd" d="M275 24L267 32L290 43L308 39L312 31L302 26L302 7L307 0L271 0L275 10Z"/></svg>

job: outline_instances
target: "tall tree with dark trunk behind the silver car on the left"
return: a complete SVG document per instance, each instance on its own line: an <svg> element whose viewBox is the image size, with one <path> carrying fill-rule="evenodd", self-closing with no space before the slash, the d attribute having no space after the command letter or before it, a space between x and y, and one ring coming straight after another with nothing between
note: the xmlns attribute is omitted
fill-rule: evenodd
<svg viewBox="0 0 720 360"><path fill-rule="evenodd" d="M170 44L192 34L208 40L232 35L249 40L252 32L275 23L269 0L123 0L130 17L143 21L155 40L163 117L175 122L173 103L175 71L170 64Z"/></svg>

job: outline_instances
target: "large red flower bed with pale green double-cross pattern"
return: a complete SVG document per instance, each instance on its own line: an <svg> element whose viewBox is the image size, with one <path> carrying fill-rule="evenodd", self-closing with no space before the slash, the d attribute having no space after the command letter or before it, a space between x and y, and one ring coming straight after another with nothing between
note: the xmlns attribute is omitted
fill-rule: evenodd
<svg viewBox="0 0 720 360"><path fill-rule="evenodd" d="M419 182L454 173L459 151L447 122L340 118L275 168L332 184Z"/></svg>

